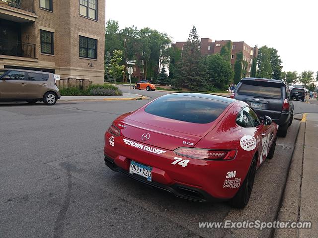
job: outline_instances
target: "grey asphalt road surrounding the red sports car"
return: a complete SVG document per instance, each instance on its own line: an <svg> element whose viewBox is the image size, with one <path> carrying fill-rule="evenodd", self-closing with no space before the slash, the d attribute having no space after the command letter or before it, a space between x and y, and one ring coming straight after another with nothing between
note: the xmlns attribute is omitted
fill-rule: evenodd
<svg viewBox="0 0 318 238"><path fill-rule="evenodd" d="M299 121L278 139L274 158L256 173L248 206L237 210L175 198L104 165L105 130L148 102L0 104L0 237L269 237L271 230L198 223L275 220ZM295 102L296 112L315 109Z"/></svg>

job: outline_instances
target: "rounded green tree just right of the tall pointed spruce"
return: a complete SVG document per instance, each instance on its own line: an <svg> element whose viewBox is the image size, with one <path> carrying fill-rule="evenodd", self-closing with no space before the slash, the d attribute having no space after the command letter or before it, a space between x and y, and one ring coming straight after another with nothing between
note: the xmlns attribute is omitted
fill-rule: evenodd
<svg viewBox="0 0 318 238"><path fill-rule="evenodd" d="M224 89L234 77L231 63L219 54L207 57L208 83L211 86Z"/></svg>

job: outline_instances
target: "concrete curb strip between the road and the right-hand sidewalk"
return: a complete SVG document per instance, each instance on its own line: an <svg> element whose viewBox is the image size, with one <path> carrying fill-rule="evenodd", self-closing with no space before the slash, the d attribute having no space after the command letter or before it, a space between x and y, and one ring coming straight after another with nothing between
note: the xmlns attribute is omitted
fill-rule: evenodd
<svg viewBox="0 0 318 238"><path fill-rule="evenodd" d="M299 221L300 194L302 184L303 153L305 142L306 114L303 115L297 140L286 179L282 203L278 211L278 221ZM298 229L276 229L274 238L292 238L298 236Z"/></svg>

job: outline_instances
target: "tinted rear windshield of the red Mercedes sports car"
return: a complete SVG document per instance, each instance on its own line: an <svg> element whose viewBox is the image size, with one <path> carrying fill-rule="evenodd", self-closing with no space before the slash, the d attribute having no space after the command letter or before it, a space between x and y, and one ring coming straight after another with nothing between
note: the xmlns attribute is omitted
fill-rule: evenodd
<svg viewBox="0 0 318 238"><path fill-rule="evenodd" d="M192 123L210 123L217 119L230 103L184 95L165 95L145 108L145 112L163 118Z"/></svg>

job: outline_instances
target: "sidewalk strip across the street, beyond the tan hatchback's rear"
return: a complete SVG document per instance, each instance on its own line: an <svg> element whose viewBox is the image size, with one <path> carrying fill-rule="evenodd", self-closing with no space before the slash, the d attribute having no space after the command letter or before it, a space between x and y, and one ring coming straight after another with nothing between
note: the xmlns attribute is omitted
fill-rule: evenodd
<svg viewBox="0 0 318 238"><path fill-rule="evenodd" d="M97 102L97 101L117 101L117 100L144 100L148 97L134 94L123 93L122 96L62 96L58 102Z"/></svg>

